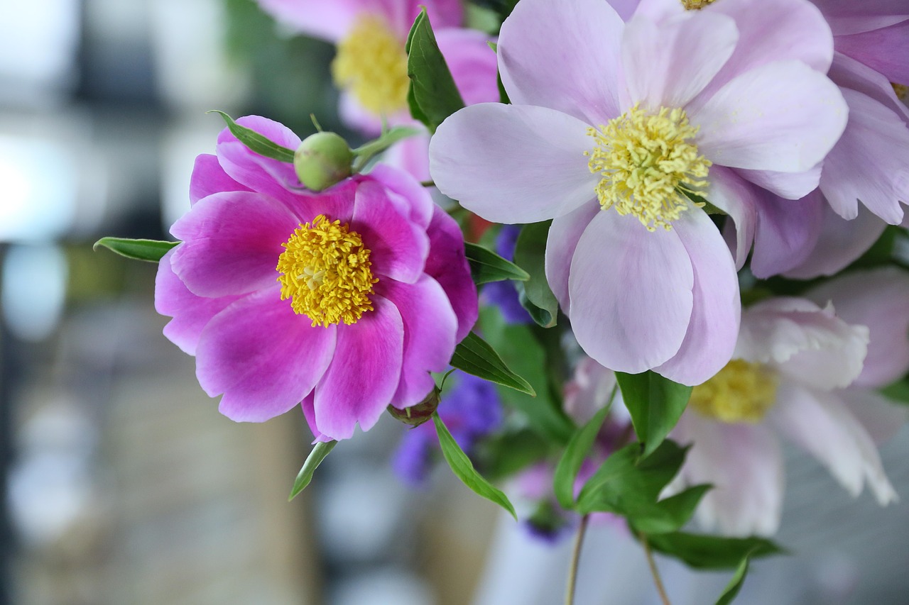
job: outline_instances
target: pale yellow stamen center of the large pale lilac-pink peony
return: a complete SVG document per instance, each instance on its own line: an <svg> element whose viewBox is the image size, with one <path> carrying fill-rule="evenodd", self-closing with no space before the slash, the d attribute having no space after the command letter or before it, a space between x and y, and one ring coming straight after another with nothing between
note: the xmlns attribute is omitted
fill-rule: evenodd
<svg viewBox="0 0 909 605"><path fill-rule="evenodd" d="M596 143L584 152L590 172L603 176L596 185L600 206L634 214L649 231L671 229L692 203L684 192L696 193L707 184L712 163L690 142L697 127L688 124L684 109L660 107L647 114L635 104L587 134Z"/></svg>

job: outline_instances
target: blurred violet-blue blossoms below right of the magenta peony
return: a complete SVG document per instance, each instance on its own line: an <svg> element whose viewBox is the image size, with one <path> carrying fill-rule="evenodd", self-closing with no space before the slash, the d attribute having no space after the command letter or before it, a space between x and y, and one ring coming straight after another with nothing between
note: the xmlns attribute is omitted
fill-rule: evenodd
<svg viewBox="0 0 909 605"><path fill-rule="evenodd" d="M465 452L470 452L477 441L502 423L502 406L492 382L486 382L464 372L454 372L448 380L454 387L442 397L439 416L451 431L454 441ZM425 422L405 431L395 459L395 471L407 483L420 485L426 479L430 458L438 449L435 426Z"/></svg>

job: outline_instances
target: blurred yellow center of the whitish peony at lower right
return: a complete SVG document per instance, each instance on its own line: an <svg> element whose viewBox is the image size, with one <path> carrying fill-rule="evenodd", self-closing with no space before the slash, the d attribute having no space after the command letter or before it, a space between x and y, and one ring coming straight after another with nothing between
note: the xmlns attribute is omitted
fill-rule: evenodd
<svg viewBox="0 0 909 605"><path fill-rule="evenodd" d="M760 363L734 359L694 387L688 405L719 422L757 423L776 402L776 374Z"/></svg>

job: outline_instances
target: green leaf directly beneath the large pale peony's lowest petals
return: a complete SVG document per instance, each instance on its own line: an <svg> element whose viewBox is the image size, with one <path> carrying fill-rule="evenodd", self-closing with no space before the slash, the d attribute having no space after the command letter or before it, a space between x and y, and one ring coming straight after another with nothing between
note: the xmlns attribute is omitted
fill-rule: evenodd
<svg viewBox="0 0 909 605"><path fill-rule="evenodd" d="M650 370L640 374L615 372L615 378L631 414L634 432L644 443L644 456L648 456L678 422L691 397L691 387Z"/></svg>

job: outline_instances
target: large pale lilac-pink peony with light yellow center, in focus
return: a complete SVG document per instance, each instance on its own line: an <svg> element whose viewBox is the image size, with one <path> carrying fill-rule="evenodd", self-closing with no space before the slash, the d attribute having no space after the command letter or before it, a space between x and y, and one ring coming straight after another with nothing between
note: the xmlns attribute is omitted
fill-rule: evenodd
<svg viewBox="0 0 909 605"><path fill-rule="evenodd" d="M782 46L718 12L639 10L624 24L604 0L522 0L498 45L514 104L466 107L438 128L443 193L496 222L554 219L546 277L597 362L697 384L729 361L734 262L688 194L732 171L816 186L847 108L823 74L830 30L807 6L799 44ZM764 30L793 17L730 7Z"/></svg>

